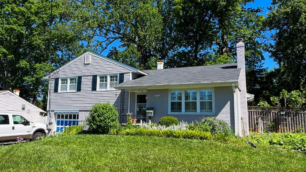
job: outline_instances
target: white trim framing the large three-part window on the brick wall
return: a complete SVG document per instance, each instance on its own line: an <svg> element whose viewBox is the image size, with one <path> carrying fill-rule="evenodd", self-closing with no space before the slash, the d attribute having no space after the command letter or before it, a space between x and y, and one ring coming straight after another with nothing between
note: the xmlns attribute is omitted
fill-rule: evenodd
<svg viewBox="0 0 306 172"><path fill-rule="evenodd" d="M210 112L200 112L200 90L212 90L212 113ZM171 91L182 91L182 112L171 112ZM196 90L196 113L195 112L185 112L185 90ZM169 89L168 90L168 114L176 115L214 115L215 114L215 89L214 88L189 88L189 89Z"/></svg>

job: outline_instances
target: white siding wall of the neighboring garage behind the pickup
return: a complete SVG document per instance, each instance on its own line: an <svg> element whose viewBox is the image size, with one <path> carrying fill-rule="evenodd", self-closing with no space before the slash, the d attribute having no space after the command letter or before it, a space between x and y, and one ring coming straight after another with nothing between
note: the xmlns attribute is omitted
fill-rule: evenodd
<svg viewBox="0 0 306 172"><path fill-rule="evenodd" d="M23 104L25 104L25 110L21 109ZM30 110L30 113L27 113L28 110ZM38 122L39 117L37 108L8 92L0 95L0 113L17 113L30 122Z"/></svg>

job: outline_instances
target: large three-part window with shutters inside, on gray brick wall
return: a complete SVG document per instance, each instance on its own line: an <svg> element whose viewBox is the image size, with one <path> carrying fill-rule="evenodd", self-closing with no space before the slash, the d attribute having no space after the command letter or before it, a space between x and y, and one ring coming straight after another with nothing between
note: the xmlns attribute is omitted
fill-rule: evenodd
<svg viewBox="0 0 306 172"><path fill-rule="evenodd" d="M182 94L183 93L183 94ZM169 113L214 113L212 89L170 90Z"/></svg>

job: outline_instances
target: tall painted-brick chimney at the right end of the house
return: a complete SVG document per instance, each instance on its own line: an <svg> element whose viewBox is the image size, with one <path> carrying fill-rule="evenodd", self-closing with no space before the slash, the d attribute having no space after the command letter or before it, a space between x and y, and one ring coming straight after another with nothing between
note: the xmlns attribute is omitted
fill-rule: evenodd
<svg viewBox="0 0 306 172"><path fill-rule="evenodd" d="M237 53L237 68L241 69L239 77L239 87L241 88L239 114L242 117L244 133L248 135L248 103L247 103L247 88L246 88L246 77L245 77L244 43L242 42L242 38L238 39L238 43L236 44L236 53ZM240 121L241 117L238 116L237 120ZM240 133L240 135L241 134L242 133Z"/></svg>

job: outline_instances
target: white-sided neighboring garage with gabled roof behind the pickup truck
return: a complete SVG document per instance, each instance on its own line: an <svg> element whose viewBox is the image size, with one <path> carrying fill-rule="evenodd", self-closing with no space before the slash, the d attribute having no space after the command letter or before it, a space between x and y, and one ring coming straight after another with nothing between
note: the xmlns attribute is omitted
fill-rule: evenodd
<svg viewBox="0 0 306 172"><path fill-rule="evenodd" d="M0 113L17 113L30 122L39 122L40 114L45 111L19 97L19 90L16 92L18 95L9 90L0 91Z"/></svg>

